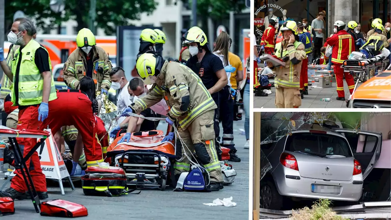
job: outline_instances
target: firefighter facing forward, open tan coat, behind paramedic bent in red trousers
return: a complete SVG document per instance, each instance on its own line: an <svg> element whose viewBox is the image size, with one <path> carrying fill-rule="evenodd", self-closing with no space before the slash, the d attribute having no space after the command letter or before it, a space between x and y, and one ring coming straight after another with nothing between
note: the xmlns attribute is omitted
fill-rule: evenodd
<svg viewBox="0 0 391 220"><path fill-rule="evenodd" d="M95 90L108 94L111 87L111 63L107 53L96 45L95 35L83 28L76 36L77 49L64 64L64 81L68 87L79 89L79 81L85 76L95 82Z"/></svg>

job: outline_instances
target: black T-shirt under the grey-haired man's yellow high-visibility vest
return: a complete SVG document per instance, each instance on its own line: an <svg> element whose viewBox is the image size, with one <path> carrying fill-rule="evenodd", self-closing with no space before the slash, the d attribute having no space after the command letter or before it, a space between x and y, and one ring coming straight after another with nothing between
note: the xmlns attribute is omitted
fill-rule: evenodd
<svg viewBox="0 0 391 220"><path fill-rule="evenodd" d="M46 71L52 71L50 69L49 65L49 54L48 52L42 48L43 46L39 47L35 51L34 55L34 61L35 65L38 67L39 73L43 73ZM20 51L23 50L23 47L20 47ZM19 52L18 56L21 56L22 52ZM16 72L15 72L15 83L14 83L14 90L15 90L15 103L19 104L19 72L20 72L20 63L22 62L22 59L19 58L18 64L16 65ZM27 108L28 106L20 106L19 109Z"/></svg>

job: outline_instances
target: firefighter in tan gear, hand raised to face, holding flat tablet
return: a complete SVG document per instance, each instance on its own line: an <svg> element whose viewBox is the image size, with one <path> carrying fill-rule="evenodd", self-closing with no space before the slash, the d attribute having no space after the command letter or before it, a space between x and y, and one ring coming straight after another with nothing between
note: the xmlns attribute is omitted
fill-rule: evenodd
<svg viewBox="0 0 391 220"><path fill-rule="evenodd" d="M299 41L296 22L287 21L281 31L284 39L276 44L275 55L285 62L285 66L274 67L273 63L267 62L267 66L276 71L275 105L277 108L298 108L301 105L301 61L307 58L307 55L304 44Z"/></svg>

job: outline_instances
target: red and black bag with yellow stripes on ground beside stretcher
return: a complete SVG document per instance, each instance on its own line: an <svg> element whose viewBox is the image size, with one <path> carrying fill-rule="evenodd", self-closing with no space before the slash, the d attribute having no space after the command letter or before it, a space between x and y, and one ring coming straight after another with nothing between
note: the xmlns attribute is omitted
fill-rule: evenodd
<svg viewBox="0 0 391 220"><path fill-rule="evenodd" d="M126 191L126 180L126 173L122 168L93 166L87 168L86 175L81 178L81 186L84 195L112 197L135 191Z"/></svg>

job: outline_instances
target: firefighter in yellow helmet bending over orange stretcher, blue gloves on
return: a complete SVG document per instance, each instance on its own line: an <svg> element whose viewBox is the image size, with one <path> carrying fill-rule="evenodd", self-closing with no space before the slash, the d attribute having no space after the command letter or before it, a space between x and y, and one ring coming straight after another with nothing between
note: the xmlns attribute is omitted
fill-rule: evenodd
<svg viewBox="0 0 391 220"><path fill-rule="evenodd" d="M217 106L201 79L182 63L169 62L153 54L141 55L136 67L140 78L146 84L153 83L153 87L146 96L127 107L124 115L127 112L140 114L164 98L170 107L166 121L177 127L179 136L187 145L182 148L182 155L178 155L181 159L174 164L176 180L181 173L190 170L190 161L186 155L191 157L195 151L199 161L210 174L208 189L222 189L223 179L213 130L214 109ZM128 126L128 130L132 130L131 126L135 125ZM170 132L163 141L172 141L174 136L174 133ZM126 133L118 142L129 142L130 137L131 133Z"/></svg>

